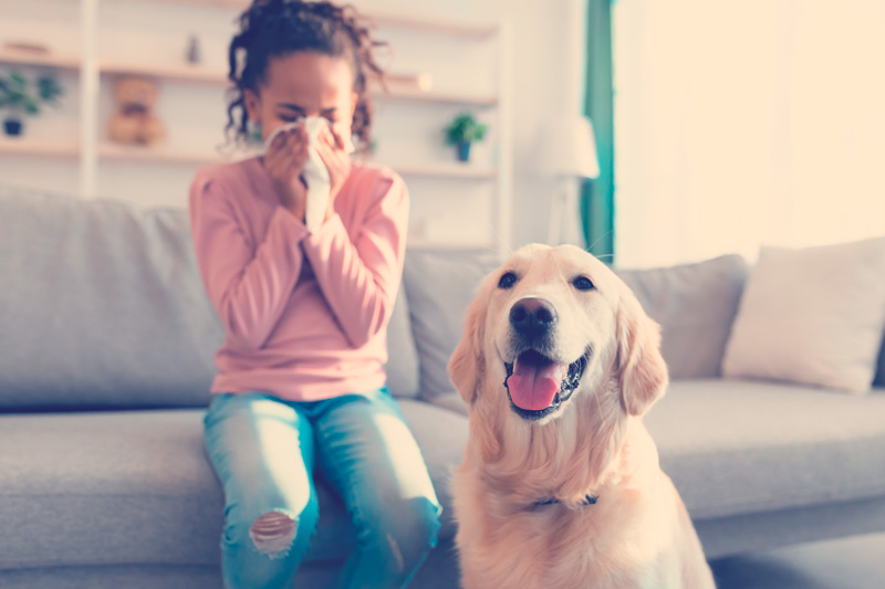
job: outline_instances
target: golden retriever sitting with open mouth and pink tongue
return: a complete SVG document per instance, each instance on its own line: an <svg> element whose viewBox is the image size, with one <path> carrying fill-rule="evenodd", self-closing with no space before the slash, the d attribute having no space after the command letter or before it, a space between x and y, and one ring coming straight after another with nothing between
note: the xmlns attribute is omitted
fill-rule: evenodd
<svg viewBox="0 0 885 589"><path fill-rule="evenodd" d="M571 245L481 283L451 356L470 435L452 478L468 589L715 587L642 416L668 383L660 328Z"/></svg>

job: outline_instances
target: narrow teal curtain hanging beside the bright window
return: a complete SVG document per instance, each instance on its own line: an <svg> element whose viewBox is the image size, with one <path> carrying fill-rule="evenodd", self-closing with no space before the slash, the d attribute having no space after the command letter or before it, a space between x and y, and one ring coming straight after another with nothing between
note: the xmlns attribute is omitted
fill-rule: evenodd
<svg viewBox="0 0 885 589"><path fill-rule="evenodd" d="M593 122L600 177L584 181L581 220L587 250L603 261L614 261L615 169L614 81L612 77L612 2L586 0L586 75L584 114Z"/></svg>

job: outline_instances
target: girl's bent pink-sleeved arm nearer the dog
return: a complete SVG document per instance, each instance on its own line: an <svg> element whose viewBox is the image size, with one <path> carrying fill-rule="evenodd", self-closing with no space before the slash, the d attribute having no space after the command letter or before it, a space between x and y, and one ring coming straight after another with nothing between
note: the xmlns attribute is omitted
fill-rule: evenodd
<svg viewBox="0 0 885 589"><path fill-rule="evenodd" d="M402 178L383 172L367 198L366 219L353 242L337 214L302 241L320 288L354 347L365 345L391 318L408 227Z"/></svg>

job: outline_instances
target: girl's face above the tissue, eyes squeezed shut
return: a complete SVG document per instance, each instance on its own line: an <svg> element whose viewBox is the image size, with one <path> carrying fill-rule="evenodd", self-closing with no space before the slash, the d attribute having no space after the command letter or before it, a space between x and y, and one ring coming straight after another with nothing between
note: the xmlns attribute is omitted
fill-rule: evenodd
<svg viewBox="0 0 885 589"><path fill-rule="evenodd" d="M300 117L321 116L343 138L351 136L358 95L344 57L298 51L271 57L259 92L243 92L246 111L261 125L262 138Z"/></svg>

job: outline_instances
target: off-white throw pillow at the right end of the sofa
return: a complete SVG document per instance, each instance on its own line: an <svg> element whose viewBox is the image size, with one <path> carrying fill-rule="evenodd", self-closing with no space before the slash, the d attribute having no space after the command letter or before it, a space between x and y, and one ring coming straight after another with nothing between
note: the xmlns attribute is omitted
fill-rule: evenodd
<svg viewBox="0 0 885 589"><path fill-rule="evenodd" d="M885 238L762 248L731 328L722 374L861 393L885 329Z"/></svg>

